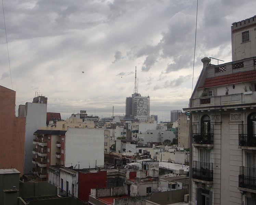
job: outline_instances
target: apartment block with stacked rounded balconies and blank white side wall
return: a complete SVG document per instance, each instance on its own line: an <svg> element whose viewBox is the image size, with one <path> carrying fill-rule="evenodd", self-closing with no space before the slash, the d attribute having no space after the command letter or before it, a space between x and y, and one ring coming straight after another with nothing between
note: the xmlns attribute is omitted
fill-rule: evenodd
<svg viewBox="0 0 256 205"><path fill-rule="evenodd" d="M99 128L38 129L34 133L32 173L48 179L50 165L96 168L104 165L104 130Z"/></svg>

